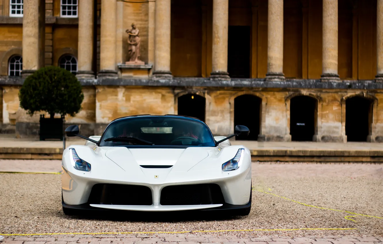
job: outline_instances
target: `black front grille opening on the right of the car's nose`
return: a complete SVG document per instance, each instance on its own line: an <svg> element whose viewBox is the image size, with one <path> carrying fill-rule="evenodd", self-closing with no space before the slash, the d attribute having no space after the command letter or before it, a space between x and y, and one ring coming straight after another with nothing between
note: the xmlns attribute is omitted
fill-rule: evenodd
<svg viewBox="0 0 383 244"><path fill-rule="evenodd" d="M161 205L200 205L224 203L217 184L170 185L161 191Z"/></svg>

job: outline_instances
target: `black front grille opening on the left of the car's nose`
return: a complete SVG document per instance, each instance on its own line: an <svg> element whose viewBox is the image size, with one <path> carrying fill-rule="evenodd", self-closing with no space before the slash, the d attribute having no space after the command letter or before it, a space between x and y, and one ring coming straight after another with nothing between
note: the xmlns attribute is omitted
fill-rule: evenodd
<svg viewBox="0 0 383 244"><path fill-rule="evenodd" d="M152 205L152 191L143 185L95 184L89 204Z"/></svg>

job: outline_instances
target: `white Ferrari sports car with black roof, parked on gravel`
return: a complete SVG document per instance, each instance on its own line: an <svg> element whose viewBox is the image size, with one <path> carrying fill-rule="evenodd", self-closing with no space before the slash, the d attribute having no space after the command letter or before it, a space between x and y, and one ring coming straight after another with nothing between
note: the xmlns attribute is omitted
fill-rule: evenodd
<svg viewBox="0 0 383 244"><path fill-rule="evenodd" d="M103 135L62 155L62 208L87 210L226 210L248 215L251 157L229 138L249 134L237 125L229 137L213 137L199 119L180 115L136 115L115 119Z"/></svg>

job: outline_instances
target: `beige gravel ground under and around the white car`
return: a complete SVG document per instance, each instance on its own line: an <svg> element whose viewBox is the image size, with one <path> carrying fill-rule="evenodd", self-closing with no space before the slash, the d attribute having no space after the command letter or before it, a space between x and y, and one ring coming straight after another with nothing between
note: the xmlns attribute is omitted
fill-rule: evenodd
<svg viewBox="0 0 383 244"><path fill-rule="evenodd" d="M29 164L33 162L36 161L29 161ZM382 164L253 163L252 210L249 216L236 218L183 213L171 217L157 213L118 218L65 216L61 209L60 180L59 175L0 174L0 233L356 228L208 234L383 236L383 219L356 216L352 218L355 221L351 221L344 217L354 214L304 206L275 196L318 207L383 217Z"/></svg>

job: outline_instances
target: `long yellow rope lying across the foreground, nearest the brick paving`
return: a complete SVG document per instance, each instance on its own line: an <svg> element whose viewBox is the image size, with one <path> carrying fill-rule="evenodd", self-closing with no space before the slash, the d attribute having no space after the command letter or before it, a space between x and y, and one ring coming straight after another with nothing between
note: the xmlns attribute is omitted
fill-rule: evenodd
<svg viewBox="0 0 383 244"><path fill-rule="evenodd" d="M298 228L298 229L227 229L216 231L157 231L157 232L99 232L99 233L42 233L42 234L1 234L2 236L46 236L46 235L100 235L100 234L180 234L201 232L233 232L233 231L298 231L298 230L350 230L356 228Z"/></svg>

